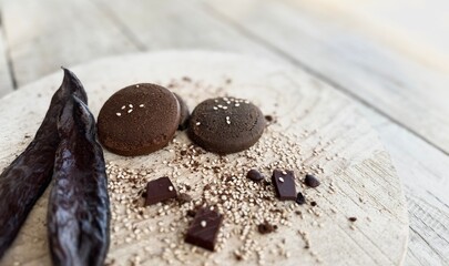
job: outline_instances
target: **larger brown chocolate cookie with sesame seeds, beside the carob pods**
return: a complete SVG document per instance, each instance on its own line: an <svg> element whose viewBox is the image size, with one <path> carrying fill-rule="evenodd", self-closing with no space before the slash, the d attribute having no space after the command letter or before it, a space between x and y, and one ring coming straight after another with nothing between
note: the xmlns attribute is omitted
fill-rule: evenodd
<svg viewBox="0 0 449 266"><path fill-rule="evenodd" d="M180 103L167 89L149 83L126 86L103 105L100 142L111 152L135 156L165 146L180 123Z"/></svg>

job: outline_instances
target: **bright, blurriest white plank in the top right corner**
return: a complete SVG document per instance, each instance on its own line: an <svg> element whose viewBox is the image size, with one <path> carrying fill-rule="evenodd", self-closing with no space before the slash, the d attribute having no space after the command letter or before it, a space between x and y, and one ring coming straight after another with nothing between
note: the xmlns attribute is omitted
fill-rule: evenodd
<svg viewBox="0 0 449 266"><path fill-rule="evenodd" d="M449 73L446 0L287 0L369 34L418 62Z"/></svg>

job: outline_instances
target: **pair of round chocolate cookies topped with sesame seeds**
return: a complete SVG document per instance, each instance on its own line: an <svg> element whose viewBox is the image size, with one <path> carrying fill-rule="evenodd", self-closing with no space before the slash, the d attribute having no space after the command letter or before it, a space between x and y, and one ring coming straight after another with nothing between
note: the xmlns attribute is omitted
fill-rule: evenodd
<svg viewBox="0 0 449 266"><path fill-rule="evenodd" d="M265 129L265 119L256 105L235 98L206 100L190 116L178 95L150 83L114 93L98 119L100 142L125 156L155 152L169 144L176 129L186 127L191 140L200 146L228 154L256 143Z"/></svg>

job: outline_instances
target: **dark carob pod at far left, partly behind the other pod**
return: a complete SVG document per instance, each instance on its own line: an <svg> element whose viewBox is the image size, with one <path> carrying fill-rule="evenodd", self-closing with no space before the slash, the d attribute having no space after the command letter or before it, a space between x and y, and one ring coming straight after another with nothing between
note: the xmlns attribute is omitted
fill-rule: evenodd
<svg viewBox="0 0 449 266"><path fill-rule="evenodd" d="M67 69L33 141L0 175L0 258L11 245L52 176L59 144L57 121L72 95L86 102L81 82Z"/></svg>

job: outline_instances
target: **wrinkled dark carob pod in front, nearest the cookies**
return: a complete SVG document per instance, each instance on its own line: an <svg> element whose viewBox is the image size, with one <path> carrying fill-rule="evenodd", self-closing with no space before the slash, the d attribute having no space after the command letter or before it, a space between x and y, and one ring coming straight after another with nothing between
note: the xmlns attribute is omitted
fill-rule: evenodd
<svg viewBox="0 0 449 266"><path fill-rule="evenodd" d="M58 121L47 227L53 265L103 265L110 243L110 202L95 120L73 96Z"/></svg>

